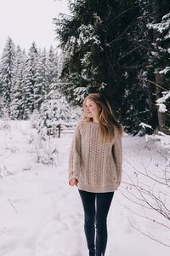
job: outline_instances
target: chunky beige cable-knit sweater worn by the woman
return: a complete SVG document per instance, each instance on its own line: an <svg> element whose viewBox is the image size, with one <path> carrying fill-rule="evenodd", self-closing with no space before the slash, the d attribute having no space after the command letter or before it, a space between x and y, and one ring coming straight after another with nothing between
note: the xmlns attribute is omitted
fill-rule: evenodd
<svg viewBox="0 0 170 256"><path fill-rule="evenodd" d="M115 143L100 143L100 127L80 120L71 142L69 182L88 192L115 191L122 180L122 137L115 127Z"/></svg>

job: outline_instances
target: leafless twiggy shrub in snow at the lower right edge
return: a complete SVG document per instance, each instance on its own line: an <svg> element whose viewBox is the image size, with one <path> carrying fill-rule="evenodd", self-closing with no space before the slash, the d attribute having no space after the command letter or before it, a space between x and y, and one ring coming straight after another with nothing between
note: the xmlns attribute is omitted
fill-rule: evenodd
<svg viewBox="0 0 170 256"><path fill-rule="evenodd" d="M161 155L167 160L167 154ZM127 163L133 167L134 172L124 171L127 178L126 182L122 182L121 193L133 203L131 208L126 208L140 218L151 222L155 229L161 227L161 230L165 231L164 234L166 232L168 234L170 231L170 160L167 160L168 164L166 166L155 164L153 171L150 171L149 164L144 166L144 170L138 170L128 161ZM135 230L138 230L144 236L170 247L168 236L163 236L162 232L160 236L152 234L150 233L150 225L147 225L148 228L144 230L144 226L137 226L130 219L129 222Z"/></svg>

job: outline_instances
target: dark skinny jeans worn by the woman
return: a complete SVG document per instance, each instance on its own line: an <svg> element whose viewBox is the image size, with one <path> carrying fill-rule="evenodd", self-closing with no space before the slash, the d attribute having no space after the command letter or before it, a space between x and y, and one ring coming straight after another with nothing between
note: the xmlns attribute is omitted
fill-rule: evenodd
<svg viewBox="0 0 170 256"><path fill-rule="evenodd" d="M114 192L93 193L81 189L78 189L78 191L84 209L84 231L88 243L88 250L89 252L94 252L96 249L97 256L104 255L107 244L107 214L111 206ZM94 224L96 226L95 243Z"/></svg>

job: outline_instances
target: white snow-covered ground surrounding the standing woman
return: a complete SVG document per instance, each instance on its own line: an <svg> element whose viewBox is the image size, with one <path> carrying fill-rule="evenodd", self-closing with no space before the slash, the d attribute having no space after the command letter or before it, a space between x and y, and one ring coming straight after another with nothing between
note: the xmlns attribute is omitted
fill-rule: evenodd
<svg viewBox="0 0 170 256"><path fill-rule="evenodd" d="M88 256L82 201L77 187L68 185L71 135L43 143L29 121L11 121L7 129L3 125L0 122L0 255ZM154 171L165 164L144 137L123 137L122 148L122 170L127 173L133 173L131 165L139 170L148 165ZM48 161L54 165L42 164ZM136 206L122 195L123 186L111 202L105 256L169 255L169 247L129 224L128 219L162 240L170 235L127 210Z"/></svg>

